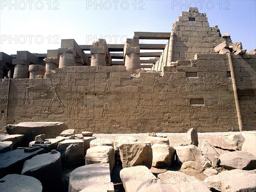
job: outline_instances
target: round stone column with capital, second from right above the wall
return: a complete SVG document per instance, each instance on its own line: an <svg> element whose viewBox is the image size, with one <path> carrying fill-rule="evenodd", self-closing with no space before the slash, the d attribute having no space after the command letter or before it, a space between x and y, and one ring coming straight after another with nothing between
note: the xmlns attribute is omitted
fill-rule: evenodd
<svg viewBox="0 0 256 192"><path fill-rule="evenodd" d="M107 66L105 47L91 47L91 66Z"/></svg>

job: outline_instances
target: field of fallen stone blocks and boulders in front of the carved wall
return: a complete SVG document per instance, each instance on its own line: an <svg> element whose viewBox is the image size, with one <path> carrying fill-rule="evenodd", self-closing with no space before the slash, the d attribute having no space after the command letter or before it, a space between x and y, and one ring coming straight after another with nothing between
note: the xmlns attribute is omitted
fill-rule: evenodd
<svg viewBox="0 0 256 192"><path fill-rule="evenodd" d="M60 191L63 166L84 164L70 173L69 192L114 192L115 162L122 163L125 192L256 190L256 131L200 140L191 128L180 145L172 145L163 134L149 133L145 140L122 134L96 138L90 131L63 131L62 123L53 127L59 136L36 135L22 149L19 143L32 132L0 135L0 191ZM157 177L151 172L163 167L169 171ZM179 169L170 171L174 167Z"/></svg>

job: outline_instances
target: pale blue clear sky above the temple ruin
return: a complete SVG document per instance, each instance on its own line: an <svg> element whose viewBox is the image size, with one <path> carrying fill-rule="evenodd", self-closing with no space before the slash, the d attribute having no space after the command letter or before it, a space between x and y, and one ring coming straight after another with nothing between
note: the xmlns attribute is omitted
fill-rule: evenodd
<svg viewBox="0 0 256 192"><path fill-rule="evenodd" d="M0 0L0 5L0 52L7 54L47 53L60 48L61 39L123 44L137 31L172 32L180 12L195 6L233 42L241 41L247 51L256 48L256 0Z"/></svg>

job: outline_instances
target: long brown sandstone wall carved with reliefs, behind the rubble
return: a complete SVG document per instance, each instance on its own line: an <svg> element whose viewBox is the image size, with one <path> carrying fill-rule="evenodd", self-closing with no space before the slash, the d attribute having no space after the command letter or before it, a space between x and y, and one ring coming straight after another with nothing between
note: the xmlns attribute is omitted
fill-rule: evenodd
<svg viewBox="0 0 256 192"><path fill-rule="evenodd" d="M236 78L244 73L241 84L252 79L254 91L241 95L243 87L238 87L244 130L255 129L256 58L250 57L233 59ZM163 73L76 66L56 68L43 79L1 79L1 129L18 122L59 121L95 133L239 130L227 55L195 58L163 67ZM245 67L247 72L241 72Z"/></svg>

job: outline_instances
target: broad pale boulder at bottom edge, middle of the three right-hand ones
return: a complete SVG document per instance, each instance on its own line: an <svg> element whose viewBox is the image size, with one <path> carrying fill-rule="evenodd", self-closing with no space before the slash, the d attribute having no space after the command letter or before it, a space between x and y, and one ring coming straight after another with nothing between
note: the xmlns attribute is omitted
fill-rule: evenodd
<svg viewBox="0 0 256 192"><path fill-rule="evenodd" d="M158 174L157 177L163 181L163 184L166 183L170 186L170 191L210 192L204 181L182 172L168 171Z"/></svg>

